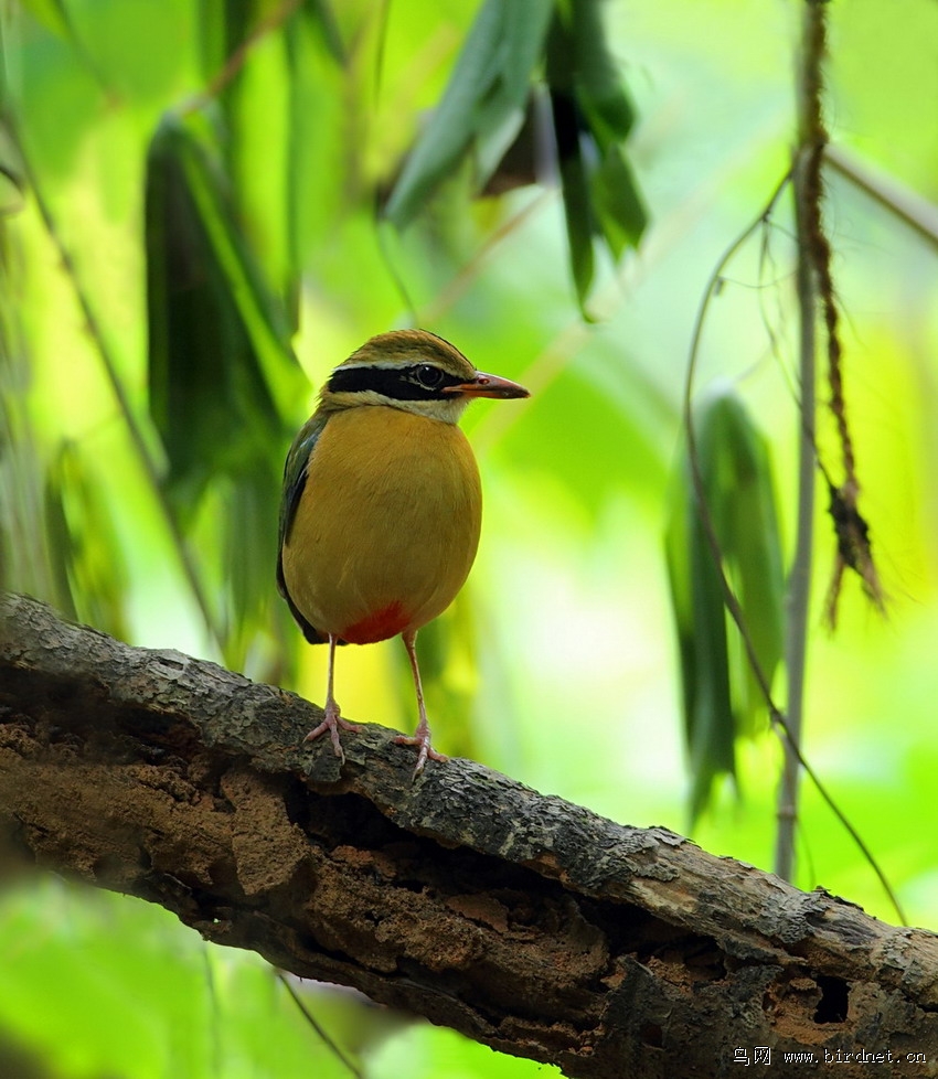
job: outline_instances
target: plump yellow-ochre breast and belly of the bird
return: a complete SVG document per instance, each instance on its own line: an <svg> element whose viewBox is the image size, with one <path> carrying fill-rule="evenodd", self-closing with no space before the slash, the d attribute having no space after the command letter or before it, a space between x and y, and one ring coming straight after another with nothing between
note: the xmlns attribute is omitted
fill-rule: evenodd
<svg viewBox="0 0 938 1079"><path fill-rule="evenodd" d="M294 603L353 644L417 630L462 587L479 470L455 424L367 405L330 416L284 546Z"/></svg>

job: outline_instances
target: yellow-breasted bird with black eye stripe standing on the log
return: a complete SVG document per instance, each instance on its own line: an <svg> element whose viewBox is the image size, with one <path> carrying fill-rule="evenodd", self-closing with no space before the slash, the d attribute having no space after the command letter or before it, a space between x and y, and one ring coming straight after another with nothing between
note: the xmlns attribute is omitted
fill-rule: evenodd
<svg viewBox="0 0 938 1079"><path fill-rule="evenodd" d="M403 638L417 697L416 777L431 744L417 631L462 587L479 544L479 467L457 426L476 397L519 398L515 382L477 371L444 338L392 330L339 364L284 467L277 586L307 641L329 645L326 735L344 763L333 692L335 648Z"/></svg>

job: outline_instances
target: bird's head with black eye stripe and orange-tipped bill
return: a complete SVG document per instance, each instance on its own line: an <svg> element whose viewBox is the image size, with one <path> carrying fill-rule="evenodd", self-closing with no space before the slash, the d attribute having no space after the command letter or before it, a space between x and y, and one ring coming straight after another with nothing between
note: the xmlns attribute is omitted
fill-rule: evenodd
<svg viewBox="0 0 938 1079"><path fill-rule="evenodd" d="M477 371L448 341L426 330L380 333L330 375L321 407L390 405L458 423L473 397L527 397L516 382Z"/></svg>

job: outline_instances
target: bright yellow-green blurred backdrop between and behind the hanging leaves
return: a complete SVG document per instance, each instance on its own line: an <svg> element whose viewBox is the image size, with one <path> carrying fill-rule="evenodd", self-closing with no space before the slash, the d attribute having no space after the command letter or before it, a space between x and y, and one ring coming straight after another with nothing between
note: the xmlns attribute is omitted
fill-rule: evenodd
<svg viewBox="0 0 938 1079"><path fill-rule="evenodd" d="M591 325L573 298L552 189L470 204L457 182L403 237L374 222L373 188L393 174L419 111L438 99L475 10L467 0L343 3L348 68L324 50L309 51L306 92L316 107L299 172L303 288L294 342L309 388L296 425L331 366L372 333L413 318L395 275L420 324L482 370L532 389L526 403L475 405L465 421L480 457L486 519L470 584L434 638L447 658L429 687L437 745L617 821L682 831L687 780L662 554L667 490L706 278L788 168L799 4L605 3L638 109L629 154L651 221L637 254L615 271L606 265ZM205 88L203 9L195 0L6 0L0 11L19 135L73 263L63 264L30 191L0 181L2 303L17 328L0 386L15 436L0 466L0 495L19 544L4 584L52 598L41 540L29 528L39 520L42 477L71 440L75 467L115 533L86 536L93 553L102 544L88 563L121 581L127 639L225 659L179 571L75 291L78 281L156 446L146 414L145 154L160 117ZM934 203L938 7L839 0L830 14L834 140L896 191ZM287 260L277 231L286 76L276 32L252 49L241 77L243 141L233 168L248 238L276 285ZM934 205L924 205L934 217ZM848 579L838 632L822 628L834 545L819 493L806 752L909 920L936 928L938 252L835 175L828 220L861 508L888 613L881 618ZM738 381L771 442L790 552L798 416L787 205L766 237L768 257L757 236L726 271L697 385ZM821 446L835 469L828 426L822 419ZM281 457L286 444L275 451ZM196 528L210 587L221 574L212 517L224 511L224 492L215 492ZM95 607L92 588L73 585L79 617L102 623L114 615ZM277 603L271 573L238 663L255 677L278 664L280 645L265 630ZM291 687L321 701L322 650L294 644L300 660ZM345 715L413 725L402 653L388 642L340 654ZM744 746L740 798L721 790L693 837L769 868L778 757L768 735ZM895 919L810 784L796 883L823 885ZM24 1047L44 1069L38 1075L347 1073L259 960L209 948L136 900L20 880L0 895L0 1046ZM448 1032L376 1017L344 995L317 990L308 1003L375 1079L550 1072Z"/></svg>

